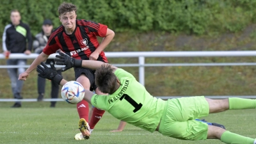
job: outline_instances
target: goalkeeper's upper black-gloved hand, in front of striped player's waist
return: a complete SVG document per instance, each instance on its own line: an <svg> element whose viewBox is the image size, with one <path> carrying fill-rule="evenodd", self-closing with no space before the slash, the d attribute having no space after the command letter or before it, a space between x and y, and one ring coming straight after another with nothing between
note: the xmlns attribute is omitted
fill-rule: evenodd
<svg viewBox="0 0 256 144"><path fill-rule="evenodd" d="M76 60L63 52L60 52L60 55L56 55L54 61L56 62L56 65L66 65L66 67L61 69L61 71L64 72L72 67L82 67L83 60Z"/></svg>

